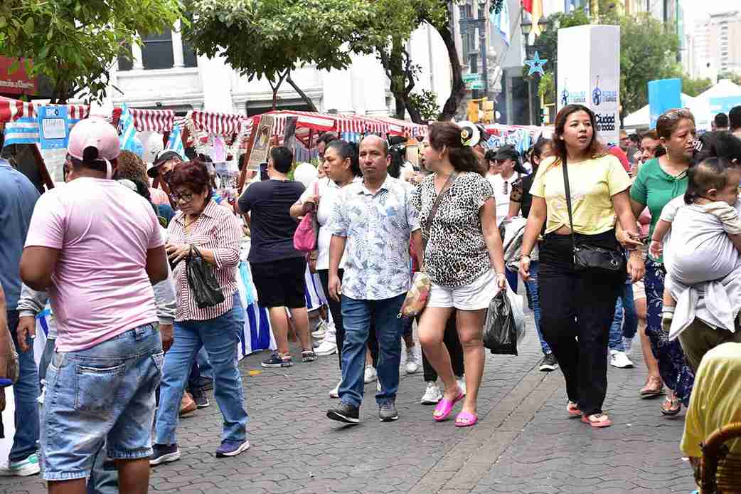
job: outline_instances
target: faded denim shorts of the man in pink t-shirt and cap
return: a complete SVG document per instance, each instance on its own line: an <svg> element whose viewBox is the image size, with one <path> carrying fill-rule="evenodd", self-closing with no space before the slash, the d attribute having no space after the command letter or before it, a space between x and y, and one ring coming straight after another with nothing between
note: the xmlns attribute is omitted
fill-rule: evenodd
<svg viewBox="0 0 741 494"><path fill-rule="evenodd" d="M87 477L104 442L113 460L152 454L154 391L162 359L154 324L88 349L54 354L41 404L45 480Z"/></svg>

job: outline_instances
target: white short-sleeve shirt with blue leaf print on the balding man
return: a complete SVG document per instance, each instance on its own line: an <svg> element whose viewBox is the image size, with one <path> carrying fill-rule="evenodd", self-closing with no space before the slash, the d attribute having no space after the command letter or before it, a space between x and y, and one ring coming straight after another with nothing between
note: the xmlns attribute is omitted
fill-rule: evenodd
<svg viewBox="0 0 741 494"><path fill-rule="evenodd" d="M372 194L363 182L342 188L330 231L346 237L342 294L356 300L383 300L409 289L409 240L419 229L411 191L387 177Z"/></svg>

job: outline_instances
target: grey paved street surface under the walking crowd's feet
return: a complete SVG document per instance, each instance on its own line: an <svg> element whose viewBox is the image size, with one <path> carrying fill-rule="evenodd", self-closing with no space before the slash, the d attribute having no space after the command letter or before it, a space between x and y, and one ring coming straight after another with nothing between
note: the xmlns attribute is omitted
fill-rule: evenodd
<svg viewBox="0 0 741 494"><path fill-rule="evenodd" d="M638 398L638 340L637 368L609 371L605 410L614 426L597 430L567 418L562 375L538 371L532 327L519 356L488 355L481 420L470 429L432 420L433 407L419 404L421 369L401 369L399 421L379 422L373 383L361 425L343 427L325 418L337 403L328 398L339 380L336 355L278 370L260 369L265 354L251 355L240 369L252 447L216 458L221 415L211 399L180 422L182 459L153 468L150 492L690 493L691 469L679 452L684 412L664 418L660 400ZM45 492L38 477L0 478L0 493Z"/></svg>

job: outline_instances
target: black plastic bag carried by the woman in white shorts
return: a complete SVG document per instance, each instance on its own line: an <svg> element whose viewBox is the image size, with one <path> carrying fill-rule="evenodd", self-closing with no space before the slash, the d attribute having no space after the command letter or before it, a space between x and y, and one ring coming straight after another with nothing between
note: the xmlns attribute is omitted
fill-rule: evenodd
<svg viewBox="0 0 741 494"><path fill-rule="evenodd" d="M484 323L484 346L494 355L517 355L517 343L525 337L522 297L509 286L499 290L489 303Z"/></svg>

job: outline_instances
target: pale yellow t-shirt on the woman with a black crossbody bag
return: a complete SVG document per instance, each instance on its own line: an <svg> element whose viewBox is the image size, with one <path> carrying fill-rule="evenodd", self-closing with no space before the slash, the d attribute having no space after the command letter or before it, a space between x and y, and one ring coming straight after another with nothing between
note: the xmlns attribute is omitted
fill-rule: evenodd
<svg viewBox="0 0 741 494"><path fill-rule="evenodd" d="M554 165L555 160L555 157L550 157L540 163L530 189L531 194L545 199L548 208L547 234L569 225L563 169L560 163ZM614 228L612 197L631 186L631 179L617 157L607 154L567 166L574 232L596 235Z"/></svg>

